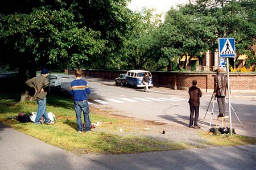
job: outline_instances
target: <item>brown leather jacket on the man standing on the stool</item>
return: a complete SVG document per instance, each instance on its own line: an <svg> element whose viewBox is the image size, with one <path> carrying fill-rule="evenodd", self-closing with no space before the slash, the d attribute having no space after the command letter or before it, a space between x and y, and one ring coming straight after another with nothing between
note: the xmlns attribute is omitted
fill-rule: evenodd
<svg viewBox="0 0 256 170"><path fill-rule="evenodd" d="M225 97L227 88L228 80L223 73L214 76L214 93L216 93L216 96Z"/></svg>

